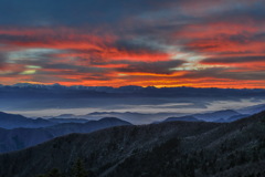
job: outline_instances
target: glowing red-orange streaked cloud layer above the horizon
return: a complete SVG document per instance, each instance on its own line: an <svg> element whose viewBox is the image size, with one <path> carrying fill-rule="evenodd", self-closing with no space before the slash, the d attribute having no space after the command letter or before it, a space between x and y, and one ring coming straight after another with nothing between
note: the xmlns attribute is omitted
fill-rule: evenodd
<svg viewBox="0 0 265 177"><path fill-rule="evenodd" d="M211 65L224 67L197 71L197 64L193 63L193 70L179 71L171 70L184 63L171 60L176 52L118 48L120 37L110 33L87 33L68 28L1 29L0 42L4 45L0 51L6 52L6 61L10 60L10 53L26 49L52 49L59 52L45 53L36 56L38 60L33 55L31 61L23 59L2 62L0 77L3 84L29 82L89 86L265 87L265 83L261 81L264 74L262 69L265 66L265 45L263 41L252 39L256 32L258 28L255 25L222 22L206 27L187 25L174 33L171 40L183 41L180 45L187 53L205 53L209 59L199 64L210 69ZM41 67L34 74L20 74L26 71L26 65Z"/></svg>

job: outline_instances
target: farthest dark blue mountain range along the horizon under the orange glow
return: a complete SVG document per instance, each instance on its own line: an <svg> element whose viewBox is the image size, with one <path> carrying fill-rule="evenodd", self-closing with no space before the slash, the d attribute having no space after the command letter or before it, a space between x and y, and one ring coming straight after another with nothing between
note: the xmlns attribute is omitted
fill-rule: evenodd
<svg viewBox="0 0 265 177"><path fill-rule="evenodd" d="M0 97L60 97L67 94L66 97L82 97L82 96L117 96L134 95L134 96L265 96L265 92L262 88L254 90L236 90L236 88L195 88L195 87L141 87L136 85L110 87L110 86L64 86L60 84L42 85L42 84L29 84L19 83L14 85L0 85ZM30 94L29 94L30 93Z"/></svg>

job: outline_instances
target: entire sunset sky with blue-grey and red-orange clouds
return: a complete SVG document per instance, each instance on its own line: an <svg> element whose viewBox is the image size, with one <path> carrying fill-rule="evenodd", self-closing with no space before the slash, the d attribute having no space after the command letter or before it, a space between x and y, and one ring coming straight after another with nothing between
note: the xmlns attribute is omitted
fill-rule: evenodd
<svg viewBox="0 0 265 177"><path fill-rule="evenodd" d="M0 0L0 84L265 88L265 0Z"/></svg>

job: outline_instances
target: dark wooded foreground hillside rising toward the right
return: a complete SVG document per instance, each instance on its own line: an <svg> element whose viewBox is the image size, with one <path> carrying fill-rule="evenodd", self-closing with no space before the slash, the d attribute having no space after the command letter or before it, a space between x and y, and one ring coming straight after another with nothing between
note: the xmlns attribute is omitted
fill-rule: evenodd
<svg viewBox="0 0 265 177"><path fill-rule="evenodd" d="M170 122L72 134L0 155L0 176L70 174L82 158L95 176L263 177L265 112L230 124Z"/></svg>

